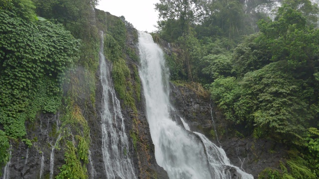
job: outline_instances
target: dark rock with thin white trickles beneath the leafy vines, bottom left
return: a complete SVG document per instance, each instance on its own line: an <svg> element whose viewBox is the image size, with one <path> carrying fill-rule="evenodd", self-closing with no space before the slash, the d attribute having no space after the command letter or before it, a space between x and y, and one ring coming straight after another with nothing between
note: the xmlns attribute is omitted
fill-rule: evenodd
<svg viewBox="0 0 319 179"><path fill-rule="evenodd" d="M49 179L50 165L53 164L50 164L50 156L56 143L59 124L58 114L40 114L35 121L26 122L26 138L31 140L32 146L28 147L24 142L10 140L11 159L8 179L39 179L40 176L42 179ZM64 152L54 149L53 155L52 178L58 174L59 167L64 164Z"/></svg>

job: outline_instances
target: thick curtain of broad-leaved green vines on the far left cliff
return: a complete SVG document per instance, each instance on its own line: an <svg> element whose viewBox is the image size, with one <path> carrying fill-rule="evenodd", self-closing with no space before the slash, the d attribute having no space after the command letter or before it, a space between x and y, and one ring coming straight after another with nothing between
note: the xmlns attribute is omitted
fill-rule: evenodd
<svg viewBox="0 0 319 179"><path fill-rule="evenodd" d="M61 104L65 72L78 60L79 41L61 24L33 20L30 1L8 4L0 9L0 123L17 138L26 134L25 120Z"/></svg>

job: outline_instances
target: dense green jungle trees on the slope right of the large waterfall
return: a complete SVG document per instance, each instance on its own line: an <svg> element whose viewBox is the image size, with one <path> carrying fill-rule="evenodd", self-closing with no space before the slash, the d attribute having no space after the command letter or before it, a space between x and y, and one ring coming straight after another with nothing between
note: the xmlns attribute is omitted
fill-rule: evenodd
<svg viewBox="0 0 319 179"><path fill-rule="evenodd" d="M259 178L319 178L318 5L310 0L160 0L171 80L199 82L234 126L290 150Z"/></svg>

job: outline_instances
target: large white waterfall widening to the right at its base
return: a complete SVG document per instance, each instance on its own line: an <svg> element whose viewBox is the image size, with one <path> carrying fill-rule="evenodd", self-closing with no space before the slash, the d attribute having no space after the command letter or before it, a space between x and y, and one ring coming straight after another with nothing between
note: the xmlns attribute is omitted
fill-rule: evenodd
<svg viewBox="0 0 319 179"><path fill-rule="evenodd" d="M227 179L233 166L229 164L225 152L221 148L213 148L211 145L214 144L202 134L187 131L189 127L182 118L186 130L171 120L167 68L163 52L150 34L139 32L139 51L139 72L157 163L170 179ZM212 160L221 161L217 172L214 166L217 164ZM241 172L237 171L239 179L253 179L251 175Z"/></svg>

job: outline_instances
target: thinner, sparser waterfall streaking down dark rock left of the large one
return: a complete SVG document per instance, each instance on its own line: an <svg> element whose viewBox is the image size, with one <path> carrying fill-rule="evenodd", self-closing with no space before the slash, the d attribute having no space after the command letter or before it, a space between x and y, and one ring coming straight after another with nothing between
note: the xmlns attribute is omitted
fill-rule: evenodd
<svg viewBox="0 0 319 179"><path fill-rule="evenodd" d="M104 34L100 44L100 80L102 98L102 154L107 179L137 179L129 153L129 141L125 133L125 121L119 99L116 97L109 67L103 54Z"/></svg>

